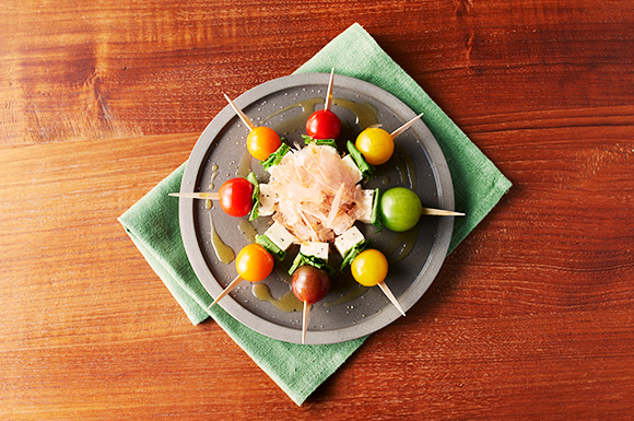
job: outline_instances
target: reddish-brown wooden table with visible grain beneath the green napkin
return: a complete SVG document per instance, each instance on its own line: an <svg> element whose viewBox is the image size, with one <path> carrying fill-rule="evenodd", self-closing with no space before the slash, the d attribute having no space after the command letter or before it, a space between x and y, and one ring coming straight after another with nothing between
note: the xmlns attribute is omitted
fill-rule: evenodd
<svg viewBox="0 0 634 421"><path fill-rule="evenodd" d="M631 419L634 3L295 3L0 5L0 418ZM297 407L116 219L354 22L514 187Z"/></svg>

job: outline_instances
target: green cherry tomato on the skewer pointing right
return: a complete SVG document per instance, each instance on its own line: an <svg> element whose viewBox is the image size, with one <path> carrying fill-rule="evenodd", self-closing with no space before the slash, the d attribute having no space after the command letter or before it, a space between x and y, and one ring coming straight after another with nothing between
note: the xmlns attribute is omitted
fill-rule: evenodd
<svg viewBox="0 0 634 421"><path fill-rule="evenodd" d="M380 197L380 219L391 231L408 231L421 218L421 199L415 192L404 187L395 187Z"/></svg>

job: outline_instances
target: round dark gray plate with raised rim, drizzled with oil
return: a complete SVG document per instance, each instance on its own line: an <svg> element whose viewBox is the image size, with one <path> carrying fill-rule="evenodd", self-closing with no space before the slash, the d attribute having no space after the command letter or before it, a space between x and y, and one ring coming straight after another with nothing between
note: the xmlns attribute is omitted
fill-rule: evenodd
<svg viewBox="0 0 634 421"><path fill-rule="evenodd" d="M305 121L322 108L329 74L298 74L258 85L237 97L235 104L257 125L267 125L301 145ZM367 82L334 75L332 110L343 122L340 141L355 139L368 125L379 122L392 131L415 116L390 93ZM181 191L216 191L225 180L253 171L260 182L268 176L260 163L246 152L248 129L228 107L221 110L196 143L183 177ZM377 168L364 188L404 186L412 188L424 207L454 209L454 190L447 163L436 140L422 120L396 140L396 152ZM343 151L343 148L340 148ZM234 262L223 264L214 252L211 220L220 238L237 254L253 242L255 232L263 233L272 223L260 218L251 223L226 215L218 204L208 209L204 200L180 199L179 218L183 242L191 266L212 296L218 296L236 277ZM373 247L390 260L386 284L406 312L427 290L443 264L454 226L453 217L422 217L412 231L396 234L357 222ZM294 305L290 277L284 274L297 248L291 248L284 262L258 284L247 281L220 301L228 314L268 337L301 342L302 311ZM337 252L330 261L338 266ZM254 288L257 288L254 289ZM270 292L270 294L269 294ZM259 296L259 297L258 297ZM298 304L298 303L295 303ZM296 311L293 311L296 308ZM372 334L400 317L379 288L356 284L350 269L338 274L330 294L310 312L306 343L334 343Z"/></svg>

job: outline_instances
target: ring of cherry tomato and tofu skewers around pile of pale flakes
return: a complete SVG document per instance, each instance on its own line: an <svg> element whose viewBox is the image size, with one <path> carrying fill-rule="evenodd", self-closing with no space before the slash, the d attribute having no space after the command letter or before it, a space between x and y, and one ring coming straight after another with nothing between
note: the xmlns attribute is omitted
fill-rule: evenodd
<svg viewBox="0 0 634 421"><path fill-rule="evenodd" d="M421 199L412 188L396 186L381 191L378 187L362 187L373 178L377 168L392 157L395 138L416 124L422 115L410 118L392 132L386 131L379 124L364 127L356 136L355 142L344 139L345 152L341 152L338 148L341 144L339 138L342 132L342 120L332 110L333 78L332 71L328 81L324 108L313 110L307 118L305 114L300 116L305 121L305 135L302 135L303 145L298 142L287 142L270 127L257 126L225 95L233 112L239 116L248 129L244 144L246 144L253 159L261 165L263 177L258 177L255 172L249 172L246 177L238 176L227 179L221 185L218 194L214 194L191 192L185 184L188 177L184 176L181 191L189 191L173 194L173 196L186 199L218 201L222 211L231 218L243 220L248 218L249 221L266 218L269 221L265 225L263 233L258 234L257 230L254 230L256 232L253 235L254 241L245 245L237 254L235 257L237 277L220 293L212 294L215 295L215 300L211 306L219 302L223 305L222 299L234 289L239 288L238 285L243 280L257 283L268 279L278 266L290 260L289 253L294 254L290 268L284 268L284 271L287 271L291 277L292 293L303 304L302 343L305 343L306 332L309 330L312 305L322 301L329 294L332 282L342 273L351 274L354 281L365 288L378 285L399 314L404 315L399 300L386 283L386 277L390 269L388 258L379 247L373 245L371 238L364 236L359 223L372 226L375 233L384 227L391 232L402 233L413 231L422 214L460 214L449 210L423 208ZM287 93L285 94L287 95ZM281 108L284 110L284 107ZM356 115L356 122L359 119L360 116ZM350 131L348 121L344 124L348 126L345 129ZM222 127L218 130L212 143L218 141L215 138L223 129L226 128ZM236 144L238 143L236 142ZM209 148L209 144L206 147ZM207 164L201 163L199 167ZM408 167L409 169L411 168ZM442 169L444 171L444 168ZM432 175L434 175L434 171L438 172L437 168L432 167ZM195 175L195 178L199 178L198 175ZM262 178L268 178L267 183L263 183ZM385 176L384 182L386 178L389 179ZM450 179L448 182L445 179L443 183L450 187ZM189 184L191 185L190 182ZM448 192L441 191L441 194L447 196ZM184 209L183 203L186 203L186 214L189 215L191 202L181 201L181 210ZM453 197L450 197L449 204L453 206ZM210 208L209 204L208 208ZM189 220L185 223L181 221L184 231L190 231L191 224L189 222ZM211 220L210 223L213 231ZM443 229L442 246L445 247L445 252L447 232L450 236L450 226L445 225ZM184 233L184 239L187 233ZM414 236L414 243L416 239L418 236ZM185 241L184 243L187 248L188 243ZM189 244L191 250L191 242ZM197 267L202 268L198 256L201 247L197 245L193 248L196 253L188 250L188 255L197 255L193 256L193 259L190 258L193 260L192 267L196 270ZM330 258L331 254L334 253L337 254L336 258ZM443 250L437 253L443 253ZM433 253L431 254L433 255ZM203 260L204 266L209 267L209 258L203 257ZM427 268L427 271L432 272L433 279L435 276L433 272L437 271L437 268ZM277 274L280 274L279 271ZM201 281L206 284L202 279ZM218 289L215 290L218 291ZM415 299L418 300L418 297ZM227 307L231 308L232 305L227 304ZM411 306L411 304L409 305ZM237 318L239 319L239 317ZM243 320L248 321L248 319L249 317L243 317ZM256 325L257 319L256 317ZM257 327L255 328L258 330ZM280 328L284 330L284 327ZM272 329L274 330L275 327ZM356 337L365 334L366 329L357 330L354 334ZM283 340L297 341L295 338L289 339L289 335L275 336L271 331L271 327L265 334ZM349 338L345 336L339 338L339 340L345 339ZM332 341L338 340L324 341L318 339L313 343Z"/></svg>

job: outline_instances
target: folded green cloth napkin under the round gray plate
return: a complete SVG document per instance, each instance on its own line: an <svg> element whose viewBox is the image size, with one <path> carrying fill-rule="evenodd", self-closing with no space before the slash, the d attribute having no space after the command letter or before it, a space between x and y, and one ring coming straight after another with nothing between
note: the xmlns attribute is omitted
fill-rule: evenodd
<svg viewBox="0 0 634 421"><path fill-rule="evenodd" d="M438 108L423 90L359 24L330 42L296 73L330 72L363 79L391 92L414 112L425 112L447 159L456 196L450 250L486 215L510 183ZM302 405L363 343L360 338L327 346L302 346L265 337L245 327L221 306L207 307L212 297L189 266L178 225L178 200L167 194L180 189L185 165L134 203L119 221L195 325L211 315L247 354L291 397ZM211 356L211 355L210 355Z"/></svg>

